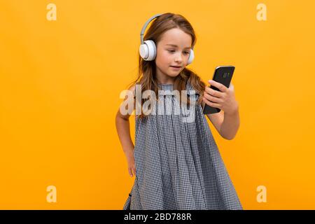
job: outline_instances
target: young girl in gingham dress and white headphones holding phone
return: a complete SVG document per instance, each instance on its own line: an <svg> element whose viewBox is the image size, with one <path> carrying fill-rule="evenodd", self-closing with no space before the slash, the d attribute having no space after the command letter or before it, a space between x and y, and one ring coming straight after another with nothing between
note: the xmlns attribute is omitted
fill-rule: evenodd
<svg viewBox="0 0 315 224"><path fill-rule="evenodd" d="M129 90L136 99L137 85L141 85L140 93L152 90L157 99L164 100L155 104L155 112L136 116L135 145L130 137L130 113L125 115L118 110L116 115L128 171L130 176L136 176L123 209L242 209L202 113L204 104L224 111L207 116L223 138L233 139L239 127L233 85L227 88L210 82L221 91L212 90L186 68L193 60L196 36L182 15L153 16L144 25L141 37L154 18L144 36L150 41L143 43L141 38L139 77ZM193 90L195 94L190 92L178 98L173 90ZM190 106L193 122L183 122L183 113L158 113L162 107L174 109L177 103L185 101L188 108L195 103ZM137 102L144 103L144 99Z"/></svg>

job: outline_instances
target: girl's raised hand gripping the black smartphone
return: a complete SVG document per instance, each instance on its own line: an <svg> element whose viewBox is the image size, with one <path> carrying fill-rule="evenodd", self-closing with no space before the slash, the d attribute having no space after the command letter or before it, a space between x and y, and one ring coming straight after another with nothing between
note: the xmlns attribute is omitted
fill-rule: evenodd
<svg viewBox="0 0 315 224"><path fill-rule="evenodd" d="M217 87L221 92L206 86L202 97L204 103L221 109L224 113L232 114L237 112L239 106L235 100L234 85L230 83L230 87L226 87L214 80L209 80L209 83L210 85Z"/></svg>

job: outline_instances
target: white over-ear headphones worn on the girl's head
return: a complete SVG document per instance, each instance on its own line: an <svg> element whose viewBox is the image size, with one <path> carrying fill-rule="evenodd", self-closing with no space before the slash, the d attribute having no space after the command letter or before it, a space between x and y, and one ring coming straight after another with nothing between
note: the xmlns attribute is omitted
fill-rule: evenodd
<svg viewBox="0 0 315 224"><path fill-rule="evenodd" d="M154 41L152 41L152 40L144 41L144 31L146 30L146 27L148 26L149 22L151 22L151 20L154 20L155 18L158 18L160 15L162 15L162 14L153 15L153 17L148 19L146 21L146 23L144 24L144 27L142 27L141 32L140 32L141 45L139 47L139 52L140 52L140 56L145 61L153 61L155 59L155 57L156 57L156 45L155 45ZM186 65L193 62L194 57L195 57L195 55L194 55L194 51L192 48L192 49L190 49L190 54L189 54L188 62Z"/></svg>

